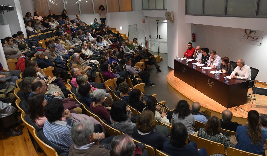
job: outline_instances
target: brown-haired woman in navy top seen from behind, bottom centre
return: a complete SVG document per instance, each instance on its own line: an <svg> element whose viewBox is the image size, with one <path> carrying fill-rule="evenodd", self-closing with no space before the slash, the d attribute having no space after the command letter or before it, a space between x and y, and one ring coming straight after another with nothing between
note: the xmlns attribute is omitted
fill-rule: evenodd
<svg viewBox="0 0 267 156"><path fill-rule="evenodd" d="M155 115L152 111L144 111L136 121L136 127L133 128L132 138L147 145L162 150L163 143L167 141L162 135L155 131Z"/></svg>

